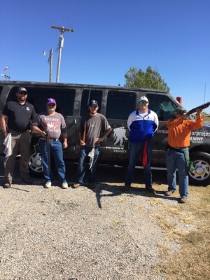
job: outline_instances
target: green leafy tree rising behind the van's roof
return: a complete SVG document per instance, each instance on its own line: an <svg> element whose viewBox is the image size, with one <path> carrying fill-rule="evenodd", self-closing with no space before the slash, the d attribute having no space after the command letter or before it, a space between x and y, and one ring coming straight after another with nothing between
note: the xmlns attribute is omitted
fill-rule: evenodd
<svg viewBox="0 0 210 280"><path fill-rule="evenodd" d="M151 66L148 66L145 72L141 69L130 67L129 71L125 73L125 86L153 88L154 90L165 90L166 92L170 90L160 73L153 70Z"/></svg>

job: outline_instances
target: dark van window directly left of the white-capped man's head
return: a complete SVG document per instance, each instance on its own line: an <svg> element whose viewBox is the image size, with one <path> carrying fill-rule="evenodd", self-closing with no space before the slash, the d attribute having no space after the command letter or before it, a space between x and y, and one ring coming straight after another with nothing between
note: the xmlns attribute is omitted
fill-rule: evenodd
<svg viewBox="0 0 210 280"><path fill-rule="evenodd" d="M107 97L106 118L127 120L136 109L137 94L135 92L110 90Z"/></svg>

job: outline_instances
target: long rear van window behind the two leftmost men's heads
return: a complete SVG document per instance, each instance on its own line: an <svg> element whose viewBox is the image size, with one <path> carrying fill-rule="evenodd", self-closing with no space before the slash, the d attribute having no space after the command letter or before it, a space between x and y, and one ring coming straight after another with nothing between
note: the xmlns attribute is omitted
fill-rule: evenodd
<svg viewBox="0 0 210 280"><path fill-rule="evenodd" d="M18 87L13 87L8 94L9 100L17 100L16 91ZM76 90L68 88L51 88L51 87L26 87L28 92L27 102L34 106L36 113L46 111L46 102L52 97L57 102L56 111L62 113L64 117L73 116L73 105Z"/></svg>

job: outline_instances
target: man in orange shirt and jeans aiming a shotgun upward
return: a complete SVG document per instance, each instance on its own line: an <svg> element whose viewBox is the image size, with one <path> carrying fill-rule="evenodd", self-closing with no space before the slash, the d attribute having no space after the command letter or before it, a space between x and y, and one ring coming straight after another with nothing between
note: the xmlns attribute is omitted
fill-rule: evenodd
<svg viewBox="0 0 210 280"><path fill-rule="evenodd" d="M171 196L176 190L176 169L179 176L179 194L181 203L188 199L188 172L186 171L185 152L190 146L190 134L203 126L202 109L197 109L196 121L189 120L187 111L178 107L175 111L175 119L169 120L168 146L166 152L168 191L166 196Z"/></svg>

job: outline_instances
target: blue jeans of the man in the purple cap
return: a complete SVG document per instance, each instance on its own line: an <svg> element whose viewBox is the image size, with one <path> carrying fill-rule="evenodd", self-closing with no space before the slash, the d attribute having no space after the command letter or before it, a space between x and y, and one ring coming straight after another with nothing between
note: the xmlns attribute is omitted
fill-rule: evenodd
<svg viewBox="0 0 210 280"><path fill-rule="evenodd" d="M38 145L41 152L41 162L43 165L44 177L46 181L53 181L53 172L52 170L50 170L49 172L49 167L48 167L48 149L47 149L46 141L40 139ZM57 168L59 183L65 183L66 167L63 160L62 144L59 140L55 142L50 142L50 156L52 156L54 159L55 166Z"/></svg>

